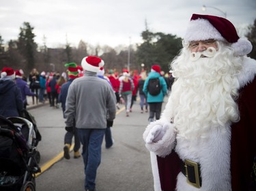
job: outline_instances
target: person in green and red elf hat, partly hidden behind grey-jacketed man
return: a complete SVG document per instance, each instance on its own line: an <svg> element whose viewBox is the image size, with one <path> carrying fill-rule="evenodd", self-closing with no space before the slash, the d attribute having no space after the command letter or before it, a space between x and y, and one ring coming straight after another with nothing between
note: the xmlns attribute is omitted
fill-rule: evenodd
<svg viewBox="0 0 256 191"><path fill-rule="evenodd" d="M68 82L64 83L61 86L60 92L59 92L59 103L61 103L62 111L63 111L63 118L65 117L65 110L66 110L66 99L68 96L68 88L70 87L70 84L79 77L79 71L77 68L76 63L66 63L65 67L68 67ZM72 131L67 131L64 137L64 158L70 159L70 147L72 145L72 138L74 137L74 158L79 158L81 156L79 149L81 146L81 143L79 141L79 136L77 135L76 130L76 123L74 120Z"/></svg>

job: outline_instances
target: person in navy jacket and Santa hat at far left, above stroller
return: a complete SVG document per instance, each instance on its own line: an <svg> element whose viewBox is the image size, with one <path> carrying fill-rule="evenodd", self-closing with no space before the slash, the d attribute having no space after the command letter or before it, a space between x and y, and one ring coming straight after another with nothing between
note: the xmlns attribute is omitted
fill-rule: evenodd
<svg viewBox="0 0 256 191"><path fill-rule="evenodd" d="M15 73L12 68L4 67L0 78L0 115L19 117L23 111L23 99L20 89L14 83Z"/></svg>

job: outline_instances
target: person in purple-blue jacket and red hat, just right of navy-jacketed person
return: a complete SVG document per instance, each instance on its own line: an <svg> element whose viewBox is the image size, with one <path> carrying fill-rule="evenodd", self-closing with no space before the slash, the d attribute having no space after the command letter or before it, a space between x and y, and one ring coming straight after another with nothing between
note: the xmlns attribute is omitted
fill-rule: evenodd
<svg viewBox="0 0 256 191"><path fill-rule="evenodd" d="M29 86L27 82L23 80L23 75L20 73L19 70L15 71L15 83L20 89L21 98L23 100L23 108L27 108L27 96L36 97L36 94L34 92L31 92L29 89Z"/></svg>

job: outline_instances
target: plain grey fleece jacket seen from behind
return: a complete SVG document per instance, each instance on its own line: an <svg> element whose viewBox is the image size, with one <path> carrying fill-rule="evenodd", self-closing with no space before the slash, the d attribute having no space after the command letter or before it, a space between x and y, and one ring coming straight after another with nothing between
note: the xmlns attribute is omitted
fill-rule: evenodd
<svg viewBox="0 0 256 191"><path fill-rule="evenodd" d="M106 128L106 118L115 119L115 103L115 94L108 82L86 71L68 89L66 126L72 126L75 119L76 128Z"/></svg>

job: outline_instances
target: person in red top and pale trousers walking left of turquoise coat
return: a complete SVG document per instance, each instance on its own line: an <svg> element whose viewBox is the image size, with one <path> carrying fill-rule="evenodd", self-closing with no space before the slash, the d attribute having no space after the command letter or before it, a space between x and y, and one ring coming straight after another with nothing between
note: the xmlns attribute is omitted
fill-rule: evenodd
<svg viewBox="0 0 256 191"><path fill-rule="evenodd" d="M134 84L132 79L130 79L130 73L128 69L123 69L123 75L122 77L119 77L119 79L119 97L124 98L124 102L126 104L126 117L128 117L130 112L130 105L132 103L132 90L134 89Z"/></svg>

